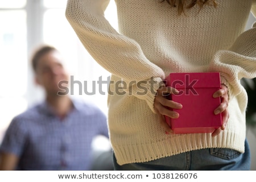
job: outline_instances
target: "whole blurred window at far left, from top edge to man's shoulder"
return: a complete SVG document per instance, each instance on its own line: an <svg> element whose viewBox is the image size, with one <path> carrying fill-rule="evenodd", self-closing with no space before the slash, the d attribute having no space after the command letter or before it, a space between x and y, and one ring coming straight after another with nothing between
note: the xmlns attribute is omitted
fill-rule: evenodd
<svg viewBox="0 0 256 182"><path fill-rule="evenodd" d="M0 139L11 119L27 108L26 0L0 2ZM6 18L8 17L8 18ZM15 23L13 23L15 22Z"/></svg>

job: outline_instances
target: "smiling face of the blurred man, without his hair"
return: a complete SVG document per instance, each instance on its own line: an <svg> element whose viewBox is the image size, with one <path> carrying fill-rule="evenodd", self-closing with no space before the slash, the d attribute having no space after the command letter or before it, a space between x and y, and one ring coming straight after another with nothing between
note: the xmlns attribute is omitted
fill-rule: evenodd
<svg viewBox="0 0 256 182"><path fill-rule="evenodd" d="M62 57L57 51L50 51L43 55L36 68L36 82L43 86L47 94L57 94L61 89L58 83L68 81L68 73L64 69Z"/></svg>

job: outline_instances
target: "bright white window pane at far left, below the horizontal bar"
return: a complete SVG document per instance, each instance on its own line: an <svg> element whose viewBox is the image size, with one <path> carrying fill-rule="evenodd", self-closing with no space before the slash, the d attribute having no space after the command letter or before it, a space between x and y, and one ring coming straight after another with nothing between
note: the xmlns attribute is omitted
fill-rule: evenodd
<svg viewBox="0 0 256 182"><path fill-rule="evenodd" d="M6 18L8 17L8 18ZM15 23L10 23L15 22ZM0 97L27 91L27 28L24 10L0 11Z"/></svg>

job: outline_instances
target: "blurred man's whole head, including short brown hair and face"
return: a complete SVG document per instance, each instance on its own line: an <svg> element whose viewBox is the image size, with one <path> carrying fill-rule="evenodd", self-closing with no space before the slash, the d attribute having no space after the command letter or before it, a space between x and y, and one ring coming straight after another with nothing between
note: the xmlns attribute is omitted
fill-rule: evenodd
<svg viewBox="0 0 256 182"><path fill-rule="evenodd" d="M68 73L64 69L63 57L60 52L51 46L42 46L32 56L32 68L36 83L41 85L51 96L60 91L58 83L68 81Z"/></svg>

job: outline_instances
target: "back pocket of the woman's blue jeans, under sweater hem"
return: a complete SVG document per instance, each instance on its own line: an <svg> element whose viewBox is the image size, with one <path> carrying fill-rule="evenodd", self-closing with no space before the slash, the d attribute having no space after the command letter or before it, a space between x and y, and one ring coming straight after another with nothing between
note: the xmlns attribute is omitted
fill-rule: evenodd
<svg viewBox="0 0 256 182"><path fill-rule="evenodd" d="M210 148L210 154L218 158L232 160L241 155L241 152L230 148Z"/></svg>

